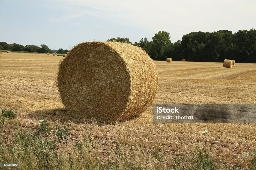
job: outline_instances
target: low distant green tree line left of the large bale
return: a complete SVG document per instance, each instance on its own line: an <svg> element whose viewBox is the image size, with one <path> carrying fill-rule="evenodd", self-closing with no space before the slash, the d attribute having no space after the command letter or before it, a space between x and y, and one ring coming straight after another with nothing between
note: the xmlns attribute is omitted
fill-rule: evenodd
<svg viewBox="0 0 256 170"><path fill-rule="evenodd" d="M28 51L28 52L35 52L35 53L53 53L51 49L45 44L41 44L41 47L38 47L36 45L21 45L17 43L13 44L7 44L6 42L0 42L0 50L9 50L9 51ZM54 50L55 51L55 50ZM59 48L59 50L56 51L56 53L62 54L62 53L68 53L69 50L63 50L62 48Z"/></svg>

